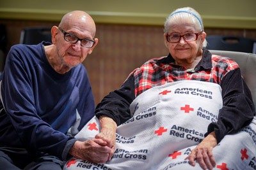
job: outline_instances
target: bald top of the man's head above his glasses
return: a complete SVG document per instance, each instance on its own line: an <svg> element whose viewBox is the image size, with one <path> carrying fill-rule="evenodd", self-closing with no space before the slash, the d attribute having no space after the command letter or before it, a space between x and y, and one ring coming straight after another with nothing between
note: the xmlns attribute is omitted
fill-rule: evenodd
<svg viewBox="0 0 256 170"><path fill-rule="evenodd" d="M96 26L93 21L93 18L84 11L71 11L66 13L59 24L59 27L63 29L70 29L71 27L86 27L92 33L92 36L95 36Z"/></svg>

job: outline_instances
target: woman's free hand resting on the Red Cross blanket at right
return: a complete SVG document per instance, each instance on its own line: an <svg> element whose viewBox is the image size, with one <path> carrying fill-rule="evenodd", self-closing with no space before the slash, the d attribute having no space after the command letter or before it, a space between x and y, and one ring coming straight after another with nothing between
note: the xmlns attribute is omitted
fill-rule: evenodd
<svg viewBox="0 0 256 170"><path fill-rule="evenodd" d="M216 166L215 159L212 155L212 149L217 145L214 132L211 132L205 139L196 146L186 159L191 166L195 166L195 160L202 169L212 169Z"/></svg>

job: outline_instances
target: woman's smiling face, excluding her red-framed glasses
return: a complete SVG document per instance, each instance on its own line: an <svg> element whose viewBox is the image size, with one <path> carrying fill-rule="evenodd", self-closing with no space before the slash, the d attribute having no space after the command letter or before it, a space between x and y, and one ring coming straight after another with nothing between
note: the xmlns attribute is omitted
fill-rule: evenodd
<svg viewBox="0 0 256 170"><path fill-rule="evenodd" d="M196 31L195 27L191 24L181 24L172 27L168 34L177 34L182 36L188 33L198 33L200 31ZM164 34L164 41L166 47L171 53L173 59L175 60L184 60L195 58L198 55L202 54L202 45L205 39L205 32L201 32L198 34L198 38L195 41L186 42L184 38L180 38L180 41L177 43L169 43L166 40L166 34Z"/></svg>

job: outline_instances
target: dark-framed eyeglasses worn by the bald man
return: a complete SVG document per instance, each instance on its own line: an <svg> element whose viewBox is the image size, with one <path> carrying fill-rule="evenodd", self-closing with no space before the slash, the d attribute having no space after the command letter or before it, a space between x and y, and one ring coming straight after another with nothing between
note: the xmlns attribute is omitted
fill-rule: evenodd
<svg viewBox="0 0 256 170"><path fill-rule="evenodd" d="M63 29L61 28L58 28L60 29L60 31L64 34L64 39L66 41L68 41L69 43L72 43L72 44L76 44L77 41L81 41L81 46L84 46L86 48L92 48L92 46L95 44L95 41L93 40L90 40L90 39L80 39L80 38L77 38L77 36L74 36L68 32L65 32L63 31Z"/></svg>

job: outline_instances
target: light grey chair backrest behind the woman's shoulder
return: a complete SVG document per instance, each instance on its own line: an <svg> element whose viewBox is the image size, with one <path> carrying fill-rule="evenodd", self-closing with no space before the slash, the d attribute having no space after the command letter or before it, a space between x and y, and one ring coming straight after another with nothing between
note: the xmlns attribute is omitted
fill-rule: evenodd
<svg viewBox="0 0 256 170"><path fill-rule="evenodd" d="M221 50L210 50L210 52L229 57L239 64L244 81L252 92L253 103L256 108L256 54Z"/></svg>

